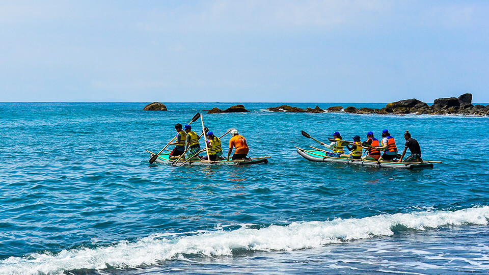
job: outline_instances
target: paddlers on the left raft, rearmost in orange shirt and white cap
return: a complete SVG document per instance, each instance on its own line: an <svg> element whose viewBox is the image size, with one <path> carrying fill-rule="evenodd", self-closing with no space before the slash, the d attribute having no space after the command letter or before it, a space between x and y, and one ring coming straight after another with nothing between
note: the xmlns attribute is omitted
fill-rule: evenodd
<svg viewBox="0 0 489 275"><path fill-rule="evenodd" d="M173 148L172 152L170 153L170 159L209 159L210 161L224 160L221 139L220 137L215 136L213 132L208 131L206 134L202 132L201 135L198 135L196 132L192 131L192 126L189 124L182 128L180 123L175 125L175 130L177 131L175 142L169 143L170 145L175 145L175 148ZM238 134L238 130L236 129L231 129L230 133L232 137L229 140L229 150L226 160L229 160L229 156L231 155L233 148L236 150L234 151L232 160L249 159L247 158L249 149L248 145L246 144L246 139L244 139L242 135ZM207 139L204 141L207 146L203 146L204 149L201 149L199 142L202 135L207 137ZM200 156L200 153L204 153L205 155Z"/></svg>

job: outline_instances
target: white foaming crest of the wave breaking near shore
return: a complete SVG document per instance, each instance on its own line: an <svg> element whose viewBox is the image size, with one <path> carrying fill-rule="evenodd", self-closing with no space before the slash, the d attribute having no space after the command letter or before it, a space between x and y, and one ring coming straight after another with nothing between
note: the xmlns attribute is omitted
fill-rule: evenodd
<svg viewBox="0 0 489 275"><path fill-rule="evenodd" d="M393 226L415 230L445 225L487 225L489 206L458 211L382 214L365 218L337 218L326 222L292 223L234 231L206 231L193 235L154 235L137 242L120 242L95 249L63 250L56 254L32 253L0 261L0 274L58 274L73 269L105 269L154 265L182 254L232 255L233 250L291 251L329 243L392 235Z"/></svg>

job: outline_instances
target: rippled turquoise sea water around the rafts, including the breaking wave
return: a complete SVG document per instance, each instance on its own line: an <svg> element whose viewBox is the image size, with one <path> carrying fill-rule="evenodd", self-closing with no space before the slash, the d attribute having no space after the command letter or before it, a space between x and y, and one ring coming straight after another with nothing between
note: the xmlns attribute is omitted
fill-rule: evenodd
<svg viewBox="0 0 489 275"><path fill-rule="evenodd" d="M0 274L489 269L489 117L264 111L282 103L201 112L233 104L0 103ZM144 150L197 112L216 134L237 128L268 164L149 165ZM309 162L294 148L317 146L301 130L364 141L384 128L401 148L409 130L425 160L443 163L379 170Z"/></svg>

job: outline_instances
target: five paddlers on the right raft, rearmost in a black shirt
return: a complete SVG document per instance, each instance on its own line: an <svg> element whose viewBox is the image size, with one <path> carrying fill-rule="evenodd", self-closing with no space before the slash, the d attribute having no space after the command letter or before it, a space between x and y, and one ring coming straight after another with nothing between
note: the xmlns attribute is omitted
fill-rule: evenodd
<svg viewBox="0 0 489 275"><path fill-rule="evenodd" d="M326 148L333 150L333 153L325 152L325 154L330 157L376 160L378 162L397 161L423 163L419 143L411 137L409 131L404 133L406 143L404 146L404 151L400 156L398 155L394 137L391 136L387 129L382 131L382 140L380 142L373 136L373 132L370 131L367 132L366 142L362 143L359 135L355 135L352 137L352 139L353 142L344 141L342 140L339 132L334 132L333 139L329 139L331 141L330 144L325 144L323 142L320 143ZM348 151L351 151L349 154L345 154L345 146ZM366 149L367 152L365 156L362 156L363 149ZM410 150L411 155L403 160L402 158L408 149ZM382 154L381 151L383 151Z"/></svg>

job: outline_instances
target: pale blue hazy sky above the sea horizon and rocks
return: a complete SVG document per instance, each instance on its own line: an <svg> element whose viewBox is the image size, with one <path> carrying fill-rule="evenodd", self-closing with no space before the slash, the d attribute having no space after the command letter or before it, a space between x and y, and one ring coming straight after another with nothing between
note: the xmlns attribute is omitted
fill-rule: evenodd
<svg viewBox="0 0 489 275"><path fill-rule="evenodd" d="M489 102L489 1L1 1L0 102Z"/></svg>

